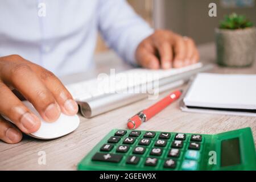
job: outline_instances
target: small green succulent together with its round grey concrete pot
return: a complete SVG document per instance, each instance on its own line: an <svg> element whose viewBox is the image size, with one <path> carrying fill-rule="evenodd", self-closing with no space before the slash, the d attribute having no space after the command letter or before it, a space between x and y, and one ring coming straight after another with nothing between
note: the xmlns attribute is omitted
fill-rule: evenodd
<svg viewBox="0 0 256 182"><path fill-rule="evenodd" d="M228 67L253 64L256 51L256 28L245 16L225 16L216 28L217 63Z"/></svg>

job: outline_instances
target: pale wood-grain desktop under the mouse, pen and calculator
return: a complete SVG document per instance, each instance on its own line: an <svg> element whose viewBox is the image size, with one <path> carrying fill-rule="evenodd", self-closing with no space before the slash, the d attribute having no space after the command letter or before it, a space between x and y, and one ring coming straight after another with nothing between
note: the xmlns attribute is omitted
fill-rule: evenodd
<svg viewBox="0 0 256 182"><path fill-rule="evenodd" d="M205 44L200 46L199 50L201 60L214 62L214 44ZM113 56L110 56L110 61L107 61L102 57L106 59L106 56L97 57L97 71L126 67L118 58L113 61ZM255 74L256 64L251 68L241 69L218 68L216 66L213 72ZM65 79L68 80L68 78ZM166 94L160 94L159 97L162 98ZM0 141L0 170L76 170L76 164L110 130L114 128L126 129L127 118L154 102L154 100L145 99L92 119L80 116L79 128L72 134L59 139L38 140L24 136L22 142L18 144L6 144ZM254 143L256 143L256 117L184 113L179 109L178 102L176 102L152 118L150 122L143 123L139 130L216 134L243 127L251 127ZM46 165L38 164L39 151L46 152Z"/></svg>

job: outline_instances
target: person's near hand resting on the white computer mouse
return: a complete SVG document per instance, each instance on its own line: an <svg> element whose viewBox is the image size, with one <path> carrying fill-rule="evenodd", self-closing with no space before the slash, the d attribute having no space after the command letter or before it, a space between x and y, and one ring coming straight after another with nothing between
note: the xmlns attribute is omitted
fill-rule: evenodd
<svg viewBox="0 0 256 182"><path fill-rule="evenodd" d="M0 139L6 143L18 143L22 139L20 131L34 133L41 125L40 119L22 104L11 88L30 101L48 122L56 121L61 111L67 115L78 111L71 94L53 73L18 55L0 57L0 114L16 125L0 115Z"/></svg>

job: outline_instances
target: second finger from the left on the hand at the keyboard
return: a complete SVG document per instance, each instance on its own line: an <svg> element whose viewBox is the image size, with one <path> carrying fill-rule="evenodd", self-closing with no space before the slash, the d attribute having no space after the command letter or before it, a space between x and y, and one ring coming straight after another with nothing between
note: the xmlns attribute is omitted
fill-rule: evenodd
<svg viewBox="0 0 256 182"><path fill-rule="evenodd" d="M160 63L163 69L170 69L172 67L172 47L171 43L164 40L156 44L160 55Z"/></svg>

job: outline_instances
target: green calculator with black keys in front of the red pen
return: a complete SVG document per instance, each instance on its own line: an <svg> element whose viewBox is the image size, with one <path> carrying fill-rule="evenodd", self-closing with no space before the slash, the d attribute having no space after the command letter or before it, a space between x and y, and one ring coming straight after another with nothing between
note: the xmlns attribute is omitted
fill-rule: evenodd
<svg viewBox="0 0 256 182"><path fill-rule="evenodd" d="M110 131L78 170L256 170L251 129L215 135Z"/></svg>

